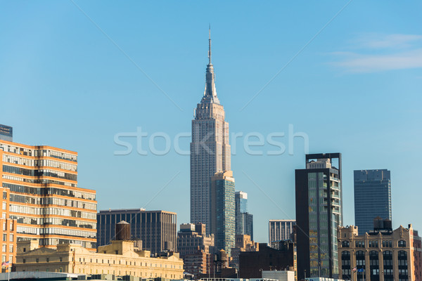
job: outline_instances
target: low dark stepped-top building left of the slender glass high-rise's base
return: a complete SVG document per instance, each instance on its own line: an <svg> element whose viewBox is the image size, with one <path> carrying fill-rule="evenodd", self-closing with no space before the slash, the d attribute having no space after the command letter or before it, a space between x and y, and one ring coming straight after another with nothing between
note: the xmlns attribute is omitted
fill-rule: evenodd
<svg viewBox="0 0 422 281"><path fill-rule="evenodd" d="M203 223L182 223L177 233L177 251L184 259L188 254L197 254L198 250L205 254L214 254L214 235L205 233Z"/></svg>

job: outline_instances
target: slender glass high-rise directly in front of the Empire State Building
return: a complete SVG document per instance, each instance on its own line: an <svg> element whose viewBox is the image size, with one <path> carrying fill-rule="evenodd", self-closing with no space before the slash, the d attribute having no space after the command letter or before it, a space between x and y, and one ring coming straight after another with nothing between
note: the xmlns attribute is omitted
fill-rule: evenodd
<svg viewBox="0 0 422 281"><path fill-rule="evenodd" d="M214 234L216 250L224 249L230 256L235 245L234 177L233 171L212 177L210 190L210 230Z"/></svg>

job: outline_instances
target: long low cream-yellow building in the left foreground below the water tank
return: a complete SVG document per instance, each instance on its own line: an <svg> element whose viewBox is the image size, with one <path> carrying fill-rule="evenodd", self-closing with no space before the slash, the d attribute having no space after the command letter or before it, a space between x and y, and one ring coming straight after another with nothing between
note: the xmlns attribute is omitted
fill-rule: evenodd
<svg viewBox="0 0 422 281"><path fill-rule="evenodd" d="M37 241L18 242L16 271L48 271L81 274L168 279L183 278L183 261L177 253L151 257L150 251L134 247L133 241L117 241L88 251L77 244L58 244L56 249L39 248Z"/></svg>

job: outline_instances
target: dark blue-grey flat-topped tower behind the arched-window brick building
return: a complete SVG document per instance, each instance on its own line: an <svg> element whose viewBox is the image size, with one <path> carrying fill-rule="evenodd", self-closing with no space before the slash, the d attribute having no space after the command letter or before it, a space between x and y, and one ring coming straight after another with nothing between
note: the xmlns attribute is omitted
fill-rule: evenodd
<svg viewBox="0 0 422 281"><path fill-rule="evenodd" d="M390 171L354 171L354 224L368 233L377 216L392 219Z"/></svg>

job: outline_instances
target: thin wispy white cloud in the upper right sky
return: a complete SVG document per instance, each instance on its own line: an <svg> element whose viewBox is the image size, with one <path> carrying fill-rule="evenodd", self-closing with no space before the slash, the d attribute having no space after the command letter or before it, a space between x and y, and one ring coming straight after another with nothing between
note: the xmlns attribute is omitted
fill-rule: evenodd
<svg viewBox="0 0 422 281"><path fill-rule="evenodd" d="M390 34L357 39L359 51L334 52L331 63L347 72L381 72L422 68L422 35Z"/></svg>

